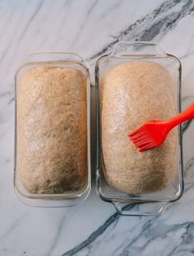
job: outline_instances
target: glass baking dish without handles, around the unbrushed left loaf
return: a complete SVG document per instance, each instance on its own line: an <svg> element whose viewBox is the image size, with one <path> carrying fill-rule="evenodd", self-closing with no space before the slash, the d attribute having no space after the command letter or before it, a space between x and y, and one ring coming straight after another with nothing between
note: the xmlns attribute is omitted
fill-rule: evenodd
<svg viewBox="0 0 194 256"><path fill-rule="evenodd" d="M65 191L59 193L35 193L26 190L21 182L21 175L17 168L17 87L21 82L21 78L30 69L35 69L40 66L46 67L63 67L78 69L83 73L86 78L86 152L87 152L87 174L84 187L80 190ZM90 160L90 77L88 64L79 55L71 53L40 53L26 56L23 63L17 69L15 74L15 156L14 156L14 188L17 197L30 206L42 206L42 207L63 207L74 206L88 197L91 188L91 160ZM53 99L54 100L54 99ZM64 155L65 158L65 155ZM52 181L51 181L52 183Z"/></svg>

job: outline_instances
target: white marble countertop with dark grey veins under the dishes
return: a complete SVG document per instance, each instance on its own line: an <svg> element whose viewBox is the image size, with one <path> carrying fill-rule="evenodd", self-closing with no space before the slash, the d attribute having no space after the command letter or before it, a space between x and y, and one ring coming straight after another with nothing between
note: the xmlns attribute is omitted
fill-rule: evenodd
<svg viewBox="0 0 194 256"><path fill-rule="evenodd" d="M185 192L159 217L119 216L92 192L69 209L31 208L12 185L13 75L24 55L76 52L96 60L121 40L151 40L182 61L182 107L194 101L191 0L2 0L0 2L0 255L194 254L194 122L184 126ZM92 92L93 93L93 92ZM92 107L92 113L94 109ZM92 129L94 126L92 119ZM92 137L92 159L95 158Z"/></svg>

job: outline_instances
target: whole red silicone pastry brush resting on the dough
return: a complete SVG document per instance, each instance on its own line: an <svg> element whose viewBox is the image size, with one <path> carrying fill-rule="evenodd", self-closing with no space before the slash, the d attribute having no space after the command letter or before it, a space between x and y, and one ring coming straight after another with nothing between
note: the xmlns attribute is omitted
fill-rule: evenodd
<svg viewBox="0 0 194 256"><path fill-rule="evenodd" d="M190 107L187 107L185 111L182 111L167 121L146 121L143 126L130 132L128 136L141 152L159 146L163 143L163 140L165 140L168 132L172 130L173 127L192 118L194 118L194 103L192 103Z"/></svg>

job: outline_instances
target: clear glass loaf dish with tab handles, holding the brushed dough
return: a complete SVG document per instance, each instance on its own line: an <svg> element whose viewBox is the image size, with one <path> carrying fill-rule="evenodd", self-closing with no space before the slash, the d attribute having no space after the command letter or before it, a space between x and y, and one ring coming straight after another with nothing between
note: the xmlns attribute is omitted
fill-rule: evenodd
<svg viewBox="0 0 194 256"><path fill-rule="evenodd" d="M173 78L173 81L175 82L174 90L177 97L177 112L181 111L181 63L175 56L168 55L163 52L159 45L151 42L121 42L116 45L115 50L113 50L110 54L103 55L100 59L98 59L95 68L97 121L97 194L103 201L111 202L121 215L159 216L163 211L165 211L168 204L172 201L177 201L177 199L182 196L183 192L181 126L179 126L177 129L177 172L167 187L160 189L157 192L148 193L146 192L135 194L130 192L121 192L114 188L114 186L111 187L106 182L106 178L104 176L104 173L106 172L106 164L104 164L104 155L102 150L102 78L104 77L107 70L116 67L116 65L136 61L154 62L163 66L165 69L168 69L168 73L170 73L171 78ZM157 90L157 84L155 90ZM106 98L103 98L103 100L106 101ZM118 169L118 178L119 171L120 170Z"/></svg>

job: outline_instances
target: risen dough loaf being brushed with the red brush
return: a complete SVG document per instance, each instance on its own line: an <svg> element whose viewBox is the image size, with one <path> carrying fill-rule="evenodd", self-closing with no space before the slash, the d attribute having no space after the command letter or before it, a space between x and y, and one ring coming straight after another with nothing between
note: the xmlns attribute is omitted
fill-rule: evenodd
<svg viewBox="0 0 194 256"><path fill-rule="evenodd" d="M119 64L105 73L101 81L103 173L112 187L146 193L172 180L177 172L177 130L163 145L142 153L127 135L144 121L175 115L175 91L168 71L153 62Z"/></svg>

